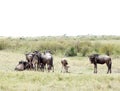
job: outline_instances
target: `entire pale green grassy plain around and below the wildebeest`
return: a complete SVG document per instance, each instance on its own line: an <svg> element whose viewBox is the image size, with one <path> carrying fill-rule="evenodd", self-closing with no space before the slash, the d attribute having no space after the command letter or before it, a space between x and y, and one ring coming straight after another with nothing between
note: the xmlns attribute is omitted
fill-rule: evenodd
<svg viewBox="0 0 120 91"><path fill-rule="evenodd" d="M106 65L93 65L87 57L67 57L70 73L61 73L61 57L54 56L55 72L14 71L22 53L0 51L0 91L120 91L120 62L112 57L112 74Z"/></svg>

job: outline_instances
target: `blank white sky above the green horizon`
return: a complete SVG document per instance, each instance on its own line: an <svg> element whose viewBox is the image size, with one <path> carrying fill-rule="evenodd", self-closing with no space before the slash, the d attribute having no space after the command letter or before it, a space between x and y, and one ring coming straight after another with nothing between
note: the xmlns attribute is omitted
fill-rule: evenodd
<svg viewBox="0 0 120 91"><path fill-rule="evenodd" d="M0 0L0 36L120 35L120 0Z"/></svg>

